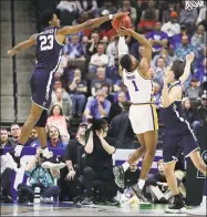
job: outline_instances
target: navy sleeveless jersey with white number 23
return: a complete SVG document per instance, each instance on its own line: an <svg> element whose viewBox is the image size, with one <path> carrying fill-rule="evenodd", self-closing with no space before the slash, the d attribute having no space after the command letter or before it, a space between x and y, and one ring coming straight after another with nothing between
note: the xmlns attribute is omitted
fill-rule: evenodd
<svg viewBox="0 0 207 217"><path fill-rule="evenodd" d="M64 44L58 42L56 33L56 28L49 27L37 34L35 69L58 70Z"/></svg>

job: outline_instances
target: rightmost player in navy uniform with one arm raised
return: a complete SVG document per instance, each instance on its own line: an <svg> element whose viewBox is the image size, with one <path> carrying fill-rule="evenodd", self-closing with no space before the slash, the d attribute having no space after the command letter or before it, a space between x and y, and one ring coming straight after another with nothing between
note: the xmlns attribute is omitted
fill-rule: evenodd
<svg viewBox="0 0 207 217"><path fill-rule="evenodd" d="M161 108L162 120L165 125L163 157L167 184L175 198L174 204L168 207L166 213L177 214L186 211L174 173L177 156L180 149L183 151L185 157L190 157L197 169L201 170L205 176L207 173L207 166L199 154L197 138L194 135L189 123L183 116L182 108L182 85L189 76L190 63L193 60L194 53L189 53L186 55L186 65L184 61L174 61L173 65L166 70L164 76L164 86L162 92L163 107Z"/></svg>

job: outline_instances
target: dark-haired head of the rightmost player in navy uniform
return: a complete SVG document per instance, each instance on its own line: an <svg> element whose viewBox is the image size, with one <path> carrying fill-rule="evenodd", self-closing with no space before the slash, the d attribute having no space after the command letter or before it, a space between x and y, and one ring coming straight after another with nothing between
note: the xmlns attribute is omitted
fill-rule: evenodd
<svg viewBox="0 0 207 217"><path fill-rule="evenodd" d="M185 61L178 59L173 62L166 75L169 78L170 83L178 81L183 75L185 69Z"/></svg>

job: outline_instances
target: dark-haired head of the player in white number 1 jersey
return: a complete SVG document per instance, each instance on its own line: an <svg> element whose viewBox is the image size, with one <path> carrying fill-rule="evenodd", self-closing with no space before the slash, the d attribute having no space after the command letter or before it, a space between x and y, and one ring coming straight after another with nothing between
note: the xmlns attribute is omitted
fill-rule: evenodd
<svg viewBox="0 0 207 217"><path fill-rule="evenodd" d="M127 72L132 72L132 71L134 71L138 66L138 61L134 58L134 55L124 54L120 59L120 64Z"/></svg>

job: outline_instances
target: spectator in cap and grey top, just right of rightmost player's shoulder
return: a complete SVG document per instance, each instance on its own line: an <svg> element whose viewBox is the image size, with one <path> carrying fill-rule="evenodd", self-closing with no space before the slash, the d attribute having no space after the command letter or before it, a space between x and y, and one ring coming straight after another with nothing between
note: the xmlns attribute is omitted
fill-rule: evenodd
<svg viewBox="0 0 207 217"><path fill-rule="evenodd" d="M198 86L198 80L193 79L190 81L190 85L185 90L185 97L189 97L190 100L198 100L201 94L201 89Z"/></svg>

